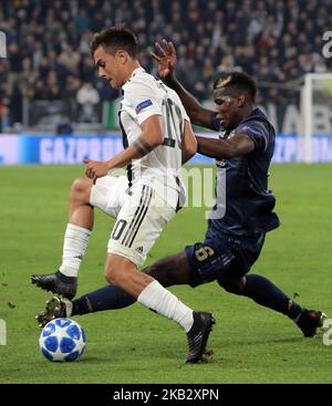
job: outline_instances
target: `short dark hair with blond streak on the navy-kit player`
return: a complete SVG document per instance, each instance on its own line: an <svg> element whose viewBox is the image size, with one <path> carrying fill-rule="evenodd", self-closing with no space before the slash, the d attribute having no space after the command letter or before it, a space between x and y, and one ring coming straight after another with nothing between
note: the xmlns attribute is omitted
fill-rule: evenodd
<svg viewBox="0 0 332 406"><path fill-rule="evenodd" d="M232 71L219 74L215 80L214 90L221 87L227 87L235 94L246 92L249 94L251 102L255 102L257 84L253 77L249 76L247 73Z"/></svg>

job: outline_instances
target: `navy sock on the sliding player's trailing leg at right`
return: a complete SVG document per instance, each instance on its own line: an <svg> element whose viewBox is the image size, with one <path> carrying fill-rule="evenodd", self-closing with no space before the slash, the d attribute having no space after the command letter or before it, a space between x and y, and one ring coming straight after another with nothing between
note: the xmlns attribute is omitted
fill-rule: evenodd
<svg viewBox="0 0 332 406"><path fill-rule="evenodd" d="M288 298L276 284L259 274L246 275L247 284L242 291L243 296L248 296L258 304L276 310L297 319L303 309L290 298Z"/></svg>

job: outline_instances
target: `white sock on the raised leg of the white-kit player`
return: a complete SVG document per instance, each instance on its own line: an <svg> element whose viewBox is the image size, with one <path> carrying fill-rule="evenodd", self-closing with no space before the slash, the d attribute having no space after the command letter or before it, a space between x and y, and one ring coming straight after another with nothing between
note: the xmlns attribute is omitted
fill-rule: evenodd
<svg viewBox="0 0 332 406"><path fill-rule="evenodd" d="M62 264L60 272L66 277L77 277L91 231L86 228L68 223L64 233Z"/></svg>

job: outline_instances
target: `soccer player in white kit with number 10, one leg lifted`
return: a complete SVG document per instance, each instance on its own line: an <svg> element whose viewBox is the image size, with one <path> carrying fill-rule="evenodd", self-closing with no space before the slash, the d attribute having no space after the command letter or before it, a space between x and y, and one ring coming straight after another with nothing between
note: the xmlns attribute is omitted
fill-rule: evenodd
<svg viewBox="0 0 332 406"><path fill-rule="evenodd" d="M101 77L122 89L120 125L125 149L107 162L85 159L86 178L74 181L63 260L58 272L35 274L38 287L72 299L93 227L93 207L116 217L107 244L106 280L139 303L176 321L187 333L187 362L201 360L215 320L195 312L137 267L164 226L185 200L180 166L197 148L189 118L177 94L144 71L137 41L115 27L94 35L91 45ZM127 166L127 177L110 171Z"/></svg>

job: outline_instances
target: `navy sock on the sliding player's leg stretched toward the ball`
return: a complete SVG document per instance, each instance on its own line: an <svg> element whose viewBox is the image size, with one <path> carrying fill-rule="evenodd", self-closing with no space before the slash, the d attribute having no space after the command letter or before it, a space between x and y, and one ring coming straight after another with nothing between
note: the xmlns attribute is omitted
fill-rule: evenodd
<svg viewBox="0 0 332 406"><path fill-rule="evenodd" d="M125 293L120 288L107 284L104 288L75 299L73 301L72 315L101 312L103 310L123 309L135 302L135 298Z"/></svg>

